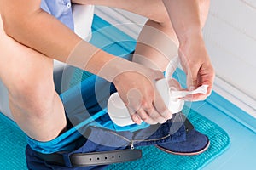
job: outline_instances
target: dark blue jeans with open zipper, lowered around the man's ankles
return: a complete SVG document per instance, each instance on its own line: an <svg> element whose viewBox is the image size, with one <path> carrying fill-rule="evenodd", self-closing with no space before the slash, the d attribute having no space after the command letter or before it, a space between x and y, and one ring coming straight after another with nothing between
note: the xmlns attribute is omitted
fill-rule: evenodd
<svg viewBox="0 0 256 170"><path fill-rule="evenodd" d="M154 132L154 133L152 133ZM107 150L124 150L131 147L167 144L182 142L186 139L186 131L183 125L181 115L177 113L172 120L167 121L162 125L149 126L136 132L123 131L114 132L102 127L88 127L88 138L81 137L82 144L76 150L61 152L66 166L59 166L44 161L37 155L37 152L26 146L26 163L28 169L61 169L61 170L85 170L85 169L104 169L108 165L94 167L72 167L69 156L74 153L89 153L95 151ZM148 137L149 136L149 137Z"/></svg>

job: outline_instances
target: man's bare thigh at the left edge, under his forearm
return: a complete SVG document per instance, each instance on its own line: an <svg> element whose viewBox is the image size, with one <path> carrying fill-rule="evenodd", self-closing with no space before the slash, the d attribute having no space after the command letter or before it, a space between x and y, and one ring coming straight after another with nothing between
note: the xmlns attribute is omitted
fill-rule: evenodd
<svg viewBox="0 0 256 170"><path fill-rule="evenodd" d="M15 82L52 80L52 77L53 60L7 36L0 15L0 79L9 92L15 88Z"/></svg>

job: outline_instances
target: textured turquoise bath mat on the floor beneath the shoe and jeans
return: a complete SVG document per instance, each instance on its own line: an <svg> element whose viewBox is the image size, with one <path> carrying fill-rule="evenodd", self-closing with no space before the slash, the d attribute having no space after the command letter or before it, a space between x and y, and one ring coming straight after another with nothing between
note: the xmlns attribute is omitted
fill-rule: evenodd
<svg viewBox="0 0 256 170"><path fill-rule="evenodd" d="M230 144L227 133L215 123L195 111L185 109L195 129L205 133L211 141L209 149L199 156L174 156L154 146L141 147L143 158L138 161L111 165L108 169L200 169L216 156L223 153ZM6 116L0 114L0 169L26 169L26 137Z"/></svg>

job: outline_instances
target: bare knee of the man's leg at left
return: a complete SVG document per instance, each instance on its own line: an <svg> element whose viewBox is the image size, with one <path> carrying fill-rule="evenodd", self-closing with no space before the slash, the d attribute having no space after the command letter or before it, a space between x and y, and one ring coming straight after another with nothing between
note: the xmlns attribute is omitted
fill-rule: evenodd
<svg viewBox="0 0 256 170"><path fill-rule="evenodd" d="M20 77L9 89L12 103L27 113L33 113L30 116L48 116L55 100L55 87L50 77L45 79Z"/></svg>

